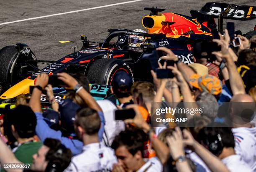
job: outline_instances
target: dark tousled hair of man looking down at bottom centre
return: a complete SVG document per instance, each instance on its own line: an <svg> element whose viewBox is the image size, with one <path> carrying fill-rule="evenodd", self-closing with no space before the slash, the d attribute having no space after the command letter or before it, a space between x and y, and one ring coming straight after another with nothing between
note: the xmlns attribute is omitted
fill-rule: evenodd
<svg viewBox="0 0 256 172"><path fill-rule="evenodd" d="M137 127L129 127L115 136L111 147L117 150L118 147L125 146L132 155L141 151L141 155L143 156L143 147L146 140L147 135L143 130Z"/></svg>

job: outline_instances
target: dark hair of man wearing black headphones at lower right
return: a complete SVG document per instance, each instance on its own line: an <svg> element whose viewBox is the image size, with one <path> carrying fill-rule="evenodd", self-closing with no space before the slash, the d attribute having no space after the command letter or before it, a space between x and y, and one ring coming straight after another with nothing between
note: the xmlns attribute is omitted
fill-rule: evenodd
<svg viewBox="0 0 256 172"><path fill-rule="evenodd" d="M235 139L231 127L218 122L212 122L207 127L202 128L197 135L197 139L207 145L207 141L218 134L221 137L223 147L235 147Z"/></svg>

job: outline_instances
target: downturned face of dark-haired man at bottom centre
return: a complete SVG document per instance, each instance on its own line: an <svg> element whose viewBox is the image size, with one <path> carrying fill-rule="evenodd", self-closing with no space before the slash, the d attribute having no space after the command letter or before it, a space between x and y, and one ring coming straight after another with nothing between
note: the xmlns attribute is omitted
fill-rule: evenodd
<svg viewBox="0 0 256 172"><path fill-rule="evenodd" d="M120 146L115 150L115 155L118 158L118 165L121 165L126 172L136 171L138 160L142 157L137 155L133 156L125 146Z"/></svg>

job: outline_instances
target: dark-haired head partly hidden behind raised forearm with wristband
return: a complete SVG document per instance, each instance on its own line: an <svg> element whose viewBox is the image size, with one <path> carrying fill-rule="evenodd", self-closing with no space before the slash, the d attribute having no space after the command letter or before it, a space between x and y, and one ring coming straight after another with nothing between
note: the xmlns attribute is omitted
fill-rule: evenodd
<svg viewBox="0 0 256 172"><path fill-rule="evenodd" d="M74 77L82 87L84 87L84 90L90 92L89 80L86 76L84 76L82 73L73 73L71 76ZM81 107L87 107L82 98L74 91L67 92L66 98L73 100Z"/></svg>

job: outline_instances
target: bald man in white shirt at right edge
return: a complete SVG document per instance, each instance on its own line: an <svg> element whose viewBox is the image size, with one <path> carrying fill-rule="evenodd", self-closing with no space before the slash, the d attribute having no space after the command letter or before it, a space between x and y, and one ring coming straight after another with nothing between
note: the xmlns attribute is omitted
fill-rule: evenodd
<svg viewBox="0 0 256 172"><path fill-rule="evenodd" d="M234 95L230 102L229 115L225 120L233 127L235 152L256 171L256 127L251 121L255 102L246 94Z"/></svg>

